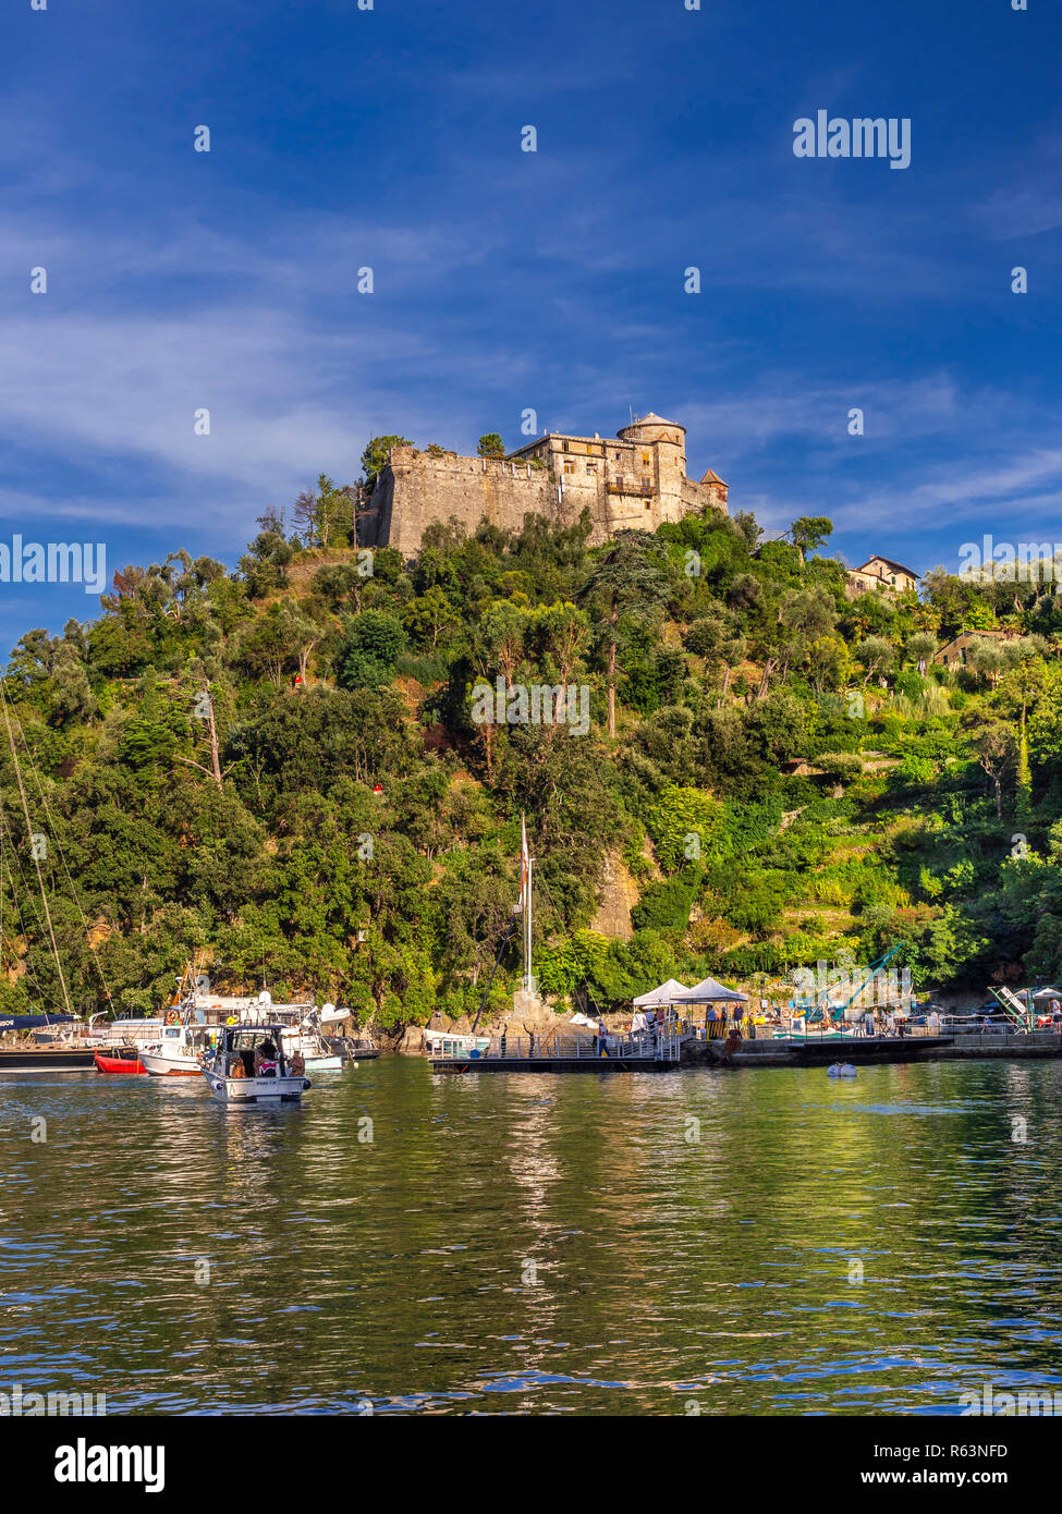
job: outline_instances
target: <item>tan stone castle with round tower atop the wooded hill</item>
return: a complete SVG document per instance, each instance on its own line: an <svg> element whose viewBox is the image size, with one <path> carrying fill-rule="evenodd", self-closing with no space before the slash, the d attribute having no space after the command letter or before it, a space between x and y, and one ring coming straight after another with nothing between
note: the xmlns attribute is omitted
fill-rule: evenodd
<svg viewBox="0 0 1062 1514"><path fill-rule="evenodd" d="M471 534L480 521L520 531L524 515L574 525L583 510L591 545L615 531L653 531L691 510L727 510L727 486L711 469L686 478L686 428L642 415L614 438L547 431L508 457L458 457L441 450L394 447L359 512L364 547L420 551L433 521L458 521Z"/></svg>

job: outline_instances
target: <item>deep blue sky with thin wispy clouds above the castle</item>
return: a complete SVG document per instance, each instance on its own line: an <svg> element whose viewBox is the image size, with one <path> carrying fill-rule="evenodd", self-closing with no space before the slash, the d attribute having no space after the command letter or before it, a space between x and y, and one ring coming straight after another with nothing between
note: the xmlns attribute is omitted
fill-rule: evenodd
<svg viewBox="0 0 1062 1514"><path fill-rule="evenodd" d="M232 563L376 433L629 407L850 562L1062 540L1062 23L1029 5L12 0L0 540ZM795 157L818 109L909 117L911 167ZM6 645L97 612L0 584Z"/></svg>

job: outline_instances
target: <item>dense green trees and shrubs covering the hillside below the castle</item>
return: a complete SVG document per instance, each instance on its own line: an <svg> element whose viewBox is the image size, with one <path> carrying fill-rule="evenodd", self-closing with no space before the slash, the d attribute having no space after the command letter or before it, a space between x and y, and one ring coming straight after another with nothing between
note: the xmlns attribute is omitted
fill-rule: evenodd
<svg viewBox="0 0 1062 1514"><path fill-rule="evenodd" d="M115 574L92 624L21 639L0 1008L64 1002L53 931L82 1011L105 983L156 1005L206 951L232 992L265 980L379 1026L465 1013L511 921L521 810L536 967L573 1002L894 942L923 987L1062 974L1062 601L1042 587L936 571L921 598L848 600L829 521L762 542L715 513L594 550L586 521L436 527L408 565L356 550L361 498L321 478L235 572L177 551ZM933 665L964 628L1014 639ZM586 686L589 731L476 724L498 677ZM591 930L606 858L638 896L629 940ZM514 949L498 1004L517 970Z"/></svg>

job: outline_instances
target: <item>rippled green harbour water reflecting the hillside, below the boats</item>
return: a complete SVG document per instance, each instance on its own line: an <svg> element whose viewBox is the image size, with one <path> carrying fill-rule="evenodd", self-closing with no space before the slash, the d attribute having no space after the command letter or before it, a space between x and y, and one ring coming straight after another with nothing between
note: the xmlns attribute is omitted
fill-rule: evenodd
<svg viewBox="0 0 1062 1514"><path fill-rule="evenodd" d="M261 1111L18 1075L0 1126L3 1376L117 1411L938 1413L1057 1381L1050 1063L383 1058Z"/></svg>

